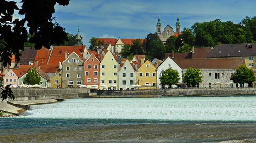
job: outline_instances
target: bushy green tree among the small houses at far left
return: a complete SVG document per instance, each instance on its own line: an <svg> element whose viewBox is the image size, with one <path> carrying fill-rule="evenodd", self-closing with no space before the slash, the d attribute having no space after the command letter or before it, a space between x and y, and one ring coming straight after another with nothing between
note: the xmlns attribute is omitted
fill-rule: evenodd
<svg viewBox="0 0 256 143"><path fill-rule="evenodd" d="M38 74L35 67L31 67L28 70L26 76L23 79L23 82L24 84L27 84L27 85L41 84L41 76Z"/></svg>

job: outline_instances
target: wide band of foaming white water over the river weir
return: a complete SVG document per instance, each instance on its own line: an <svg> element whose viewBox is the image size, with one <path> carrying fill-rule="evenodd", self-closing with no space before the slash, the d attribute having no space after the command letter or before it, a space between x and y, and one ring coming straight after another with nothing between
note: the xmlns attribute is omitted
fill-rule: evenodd
<svg viewBox="0 0 256 143"><path fill-rule="evenodd" d="M29 118L256 121L256 97L69 99L30 106Z"/></svg>

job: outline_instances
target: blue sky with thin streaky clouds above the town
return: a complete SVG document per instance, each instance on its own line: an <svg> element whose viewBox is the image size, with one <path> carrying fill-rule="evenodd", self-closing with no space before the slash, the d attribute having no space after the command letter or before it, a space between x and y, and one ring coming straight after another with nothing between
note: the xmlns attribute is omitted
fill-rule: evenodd
<svg viewBox="0 0 256 143"><path fill-rule="evenodd" d="M215 19L239 23L246 16L256 16L255 6L255 0L71 0L68 6L56 4L54 17L68 33L77 34L79 26L89 47L91 37L145 38L156 32L158 16L162 31L167 24L175 31L177 17L181 30Z"/></svg>

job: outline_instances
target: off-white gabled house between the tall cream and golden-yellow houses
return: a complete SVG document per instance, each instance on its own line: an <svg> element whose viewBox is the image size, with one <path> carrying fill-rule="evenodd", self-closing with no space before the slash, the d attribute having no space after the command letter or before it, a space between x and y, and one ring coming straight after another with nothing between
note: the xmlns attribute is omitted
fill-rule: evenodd
<svg viewBox="0 0 256 143"><path fill-rule="evenodd" d="M132 86L136 84L136 69L129 60L125 61L118 74L119 89L135 89Z"/></svg>

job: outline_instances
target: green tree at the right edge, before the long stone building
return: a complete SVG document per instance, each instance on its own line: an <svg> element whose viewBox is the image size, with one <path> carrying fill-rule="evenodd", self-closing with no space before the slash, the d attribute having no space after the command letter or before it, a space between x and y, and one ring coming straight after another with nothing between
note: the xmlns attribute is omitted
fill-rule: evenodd
<svg viewBox="0 0 256 143"><path fill-rule="evenodd" d="M251 69L247 68L245 65L240 65L231 76L231 80L233 80L234 83L240 83L242 87L244 87L244 83L252 87L252 83L256 81L256 78Z"/></svg>

